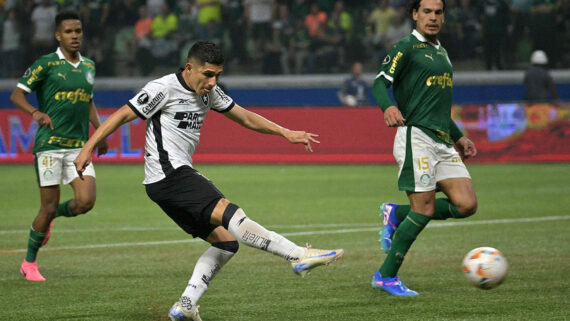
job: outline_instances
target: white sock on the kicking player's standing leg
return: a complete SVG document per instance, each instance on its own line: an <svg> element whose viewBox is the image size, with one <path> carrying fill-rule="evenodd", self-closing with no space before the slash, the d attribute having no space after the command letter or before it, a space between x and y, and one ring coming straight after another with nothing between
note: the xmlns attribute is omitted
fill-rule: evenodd
<svg viewBox="0 0 570 321"><path fill-rule="evenodd" d="M198 303L202 294L208 289L210 281L234 254L214 246L207 249L194 266L192 277L180 298L181 305L191 309L193 305Z"/></svg>

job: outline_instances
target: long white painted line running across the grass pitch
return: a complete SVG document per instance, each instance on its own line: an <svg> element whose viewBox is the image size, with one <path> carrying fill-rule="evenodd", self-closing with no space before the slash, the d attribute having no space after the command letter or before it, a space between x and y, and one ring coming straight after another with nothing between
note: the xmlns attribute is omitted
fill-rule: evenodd
<svg viewBox="0 0 570 321"><path fill-rule="evenodd" d="M483 220L483 221L460 221L460 222L434 222L428 225L428 228L438 227L451 227L451 226L471 226L471 225L484 225L484 224L505 224L505 223L533 223L542 221L558 221L569 220L570 215L566 216L545 216L534 218L515 218L515 219L497 219L497 220ZM324 230L324 231L304 231L304 232L290 232L280 233L283 236L301 236L301 235L320 235L320 234L343 234L343 233L357 233L357 232L372 232L378 231L379 225L373 228L355 228L355 229L342 229L342 230ZM83 250L95 248L108 248L108 247L126 247L126 246L146 246L146 245L166 245L166 244L180 244L180 243L195 243L200 239L187 239L187 240L172 240L172 241L154 241L154 242L133 242L133 243L111 243L111 244L91 244L79 246L62 246L62 247L48 247L42 251L62 251L62 250ZM26 252L25 249L4 251L9 253Z"/></svg>

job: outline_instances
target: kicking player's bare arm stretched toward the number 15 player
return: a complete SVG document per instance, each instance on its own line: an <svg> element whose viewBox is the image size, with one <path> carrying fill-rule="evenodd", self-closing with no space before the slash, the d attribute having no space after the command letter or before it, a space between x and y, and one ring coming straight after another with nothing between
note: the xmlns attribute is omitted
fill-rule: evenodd
<svg viewBox="0 0 570 321"><path fill-rule="evenodd" d="M304 144L305 149L309 152L313 151L311 143L320 143L316 140L316 137L319 136L317 134L300 130L289 130L237 104L224 115L243 127L256 132L283 136L292 144Z"/></svg>

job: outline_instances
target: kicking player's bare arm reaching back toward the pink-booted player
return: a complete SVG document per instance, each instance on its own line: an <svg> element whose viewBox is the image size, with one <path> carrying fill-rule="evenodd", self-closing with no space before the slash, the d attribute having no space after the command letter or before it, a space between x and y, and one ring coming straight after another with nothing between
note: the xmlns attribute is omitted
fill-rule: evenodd
<svg viewBox="0 0 570 321"><path fill-rule="evenodd" d="M77 158L73 163L75 164L75 170L77 170L77 174L79 177L83 179L83 171L87 165L91 164L91 154L93 150L102 140L107 138L107 136L111 135L119 126L124 123L128 123L133 119L137 118L137 115L131 110L131 108L127 105L124 105L119 110L114 112L107 120L97 128L97 130L93 133L93 135L89 138L89 140L85 143L83 148L81 148L81 152L77 155Z"/></svg>

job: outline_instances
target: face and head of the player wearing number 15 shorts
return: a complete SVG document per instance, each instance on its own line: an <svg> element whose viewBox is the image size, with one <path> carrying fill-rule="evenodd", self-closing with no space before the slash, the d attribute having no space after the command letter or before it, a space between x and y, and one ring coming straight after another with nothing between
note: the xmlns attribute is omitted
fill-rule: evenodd
<svg viewBox="0 0 570 321"><path fill-rule="evenodd" d="M416 21L416 30L428 40L435 40L443 25L443 2L441 0L422 0L418 10L412 12Z"/></svg>

